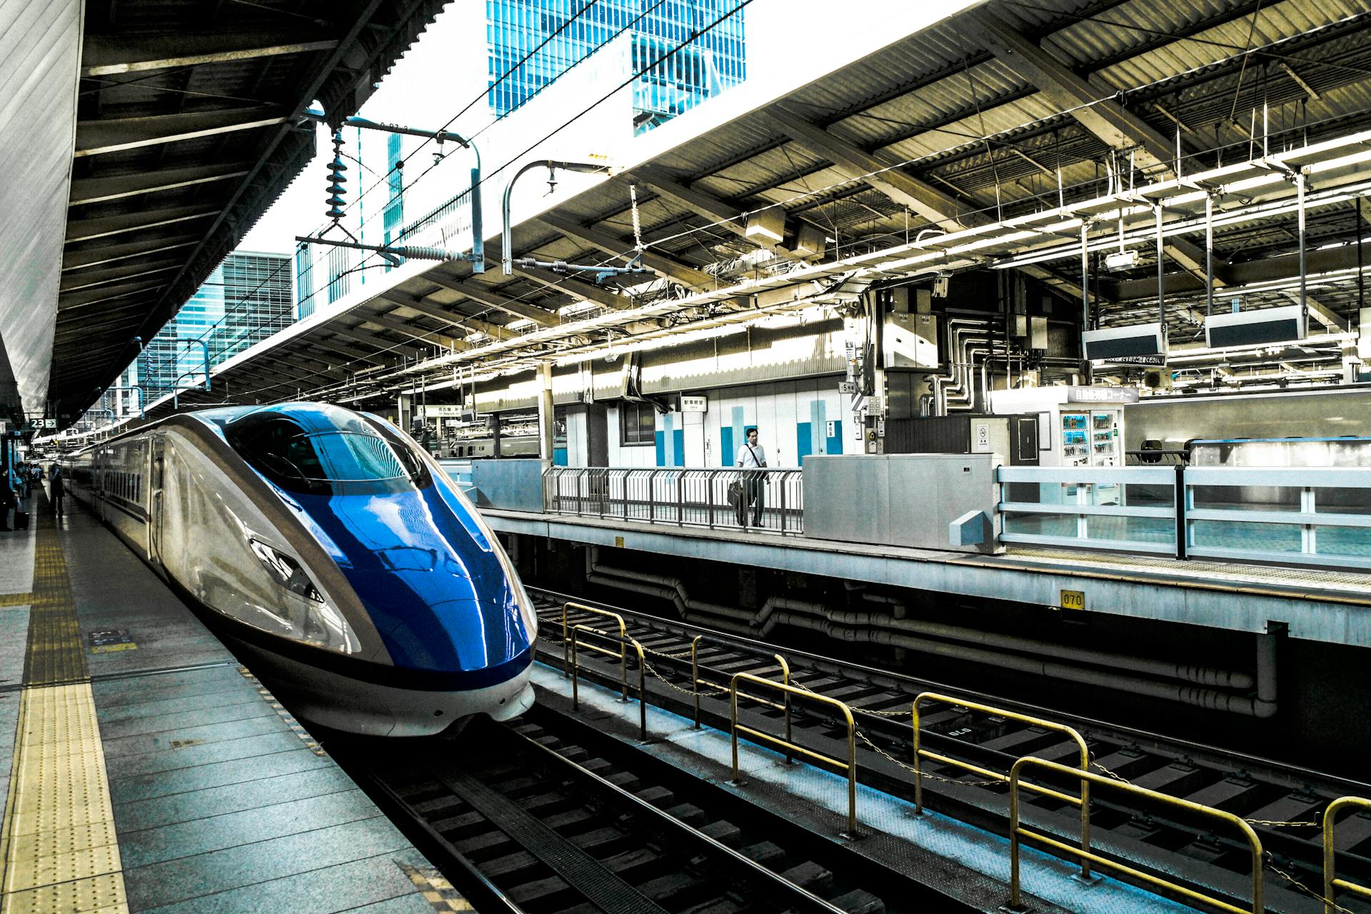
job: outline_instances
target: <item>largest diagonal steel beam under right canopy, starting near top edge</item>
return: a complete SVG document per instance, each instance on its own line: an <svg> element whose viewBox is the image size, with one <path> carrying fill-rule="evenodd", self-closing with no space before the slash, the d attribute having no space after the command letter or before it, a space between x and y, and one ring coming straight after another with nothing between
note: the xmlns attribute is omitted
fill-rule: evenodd
<svg viewBox="0 0 1371 914"><path fill-rule="evenodd" d="M1101 143L1112 149L1135 151L1137 164L1143 169L1172 167L1175 143L1138 115L1124 111L1111 97L1112 89L1098 89L1076 75L984 7L969 14L967 21L1001 63L1038 86L1058 110L1071 114Z"/></svg>

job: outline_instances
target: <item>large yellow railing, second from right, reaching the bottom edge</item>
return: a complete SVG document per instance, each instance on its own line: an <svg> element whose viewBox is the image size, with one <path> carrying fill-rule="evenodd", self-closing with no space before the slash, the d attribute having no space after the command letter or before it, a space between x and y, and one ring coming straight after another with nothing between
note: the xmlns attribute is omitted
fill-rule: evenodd
<svg viewBox="0 0 1371 914"><path fill-rule="evenodd" d="M1175 810L1182 810L1196 815L1204 815L1220 822L1226 822L1237 828L1242 836L1248 840L1248 850L1252 852L1252 907L1237 907L1228 902L1215 898L1213 895L1205 895L1187 885L1179 882L1172 882L1171 880L1161 878L1160 876L1153 876L1137 867L1128 866L1119 861L1111 859L1108 856L1100 856L1098 854L1091 854L1090 851L1072 847L1058 841L1054 837L1046 835L1031 832L1021 825L1019 825L1019 788L1028 787L1021 782L1023 770L1026 767L1036 767L1045 771L1052 771L1063 777L1080 778L1082 787L1086 782L1095 784L1097 787L1108 787L1115 791L1120 791L1130 796L1154 800L1163 806L1169 806ZM1124 781L1115 781L1102 774L1095 774L1093 771L1082 771L1067 765L1058 765L1057 762L1049 762L1046 759L1034 758L1032 755L1024 756L1015 762L1015 766L1009 769L1009 904L1017 909L1020 904L1020 885L1019 885L1019 852L1020 852L1020 839L1032 839L1038 844L1057 851L1065 856L1075 856L1082 861L1090 861L1102 867L1111 869L1116 873L1123 873L1139 882L1146 882L1157 888L1168 889L1176 895L1185 898L1189 902L1198 902L1201 904L1208 904L1209 907L1217 909L1220 911L1228 911L1230 914L1261 914L1265 911L1263 903L1263 888L1265 884L1264 870L1261 869L1261 839L1252 826L1243 821L1241 817L1233 813L1224 813L1223 810L1216 810L1209 806L1201 806L1200 803L1191 803L1190 800L1182 800L1175 796L1168 796L1165 793L1158 793L1157 791L1149 791L1148 788L1138 787L1135 784L1127 784Z"/></svg>

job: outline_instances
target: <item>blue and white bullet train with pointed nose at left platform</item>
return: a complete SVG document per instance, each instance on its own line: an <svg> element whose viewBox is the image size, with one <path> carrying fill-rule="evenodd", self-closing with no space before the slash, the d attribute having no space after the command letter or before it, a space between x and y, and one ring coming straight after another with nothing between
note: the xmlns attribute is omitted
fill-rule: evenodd
<svg viewBox="0 0 1371 914"><path fill-rule="evenodd" d="M66 473L302 717L422 736L533 703L537 619L513 565L389 422L319 403L204 410Z"/></svg>

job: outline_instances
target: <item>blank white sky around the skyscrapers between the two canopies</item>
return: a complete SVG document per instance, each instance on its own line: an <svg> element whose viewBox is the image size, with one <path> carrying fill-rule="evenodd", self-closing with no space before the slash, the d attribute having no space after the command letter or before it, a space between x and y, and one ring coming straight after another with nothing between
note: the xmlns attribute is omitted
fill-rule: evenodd
<svg viewBox="0 0 1371 914"><path fill-rule="evenodd" d="M753 0L747 16L747 92L758 103L798 88L975 0ZM439 129L484 96L485 62L454 48L472 47L470 29L484 32L484 0L452 0L381 81L359 114L373 121ZM473 66L474 64L474 66ZM484 100L472 114L484 116ZM468 121L463 118L463 121ZM461 125L458 125L461 126ZM321 126L318 148L330 152ZM240 251L288 254L295 236L324 225L325 164L317 156L239 244ZM487 163L487 170L489 170Z"/></svg>

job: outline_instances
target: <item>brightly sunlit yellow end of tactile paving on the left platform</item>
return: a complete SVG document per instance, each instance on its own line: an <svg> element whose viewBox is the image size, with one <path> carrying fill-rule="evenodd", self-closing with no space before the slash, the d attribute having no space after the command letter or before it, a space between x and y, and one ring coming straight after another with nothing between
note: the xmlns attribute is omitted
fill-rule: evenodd
<svg viewBox="0 0 1371 914"><path fill-rule="evenodd" d="M90 684L25 689L0 914L128 911Z"/></svg>

